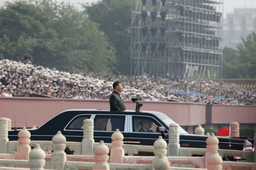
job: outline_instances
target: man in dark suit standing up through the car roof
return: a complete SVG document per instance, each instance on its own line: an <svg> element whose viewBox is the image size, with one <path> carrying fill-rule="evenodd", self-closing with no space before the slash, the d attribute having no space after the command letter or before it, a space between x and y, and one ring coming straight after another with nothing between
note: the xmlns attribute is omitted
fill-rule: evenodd
<svg viewBox="0 0 256 170"><path fill-rule="evenodd" d="M121 82L116 81L113 83L114 91L110 95L109 104L110 104L110 111L124 111L124 101L121 99L120 93L123 89Z"/></svg>

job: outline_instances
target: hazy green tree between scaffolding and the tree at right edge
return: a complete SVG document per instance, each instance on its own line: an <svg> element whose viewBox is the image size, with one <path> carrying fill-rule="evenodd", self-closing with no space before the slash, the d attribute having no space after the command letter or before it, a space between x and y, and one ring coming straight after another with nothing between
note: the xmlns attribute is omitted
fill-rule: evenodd
<svg viewBox="0 0 256 170"><path fill-rule="evenodd" d="M223 49L223 78L239 78L239 51L229 47Z"/></svg>

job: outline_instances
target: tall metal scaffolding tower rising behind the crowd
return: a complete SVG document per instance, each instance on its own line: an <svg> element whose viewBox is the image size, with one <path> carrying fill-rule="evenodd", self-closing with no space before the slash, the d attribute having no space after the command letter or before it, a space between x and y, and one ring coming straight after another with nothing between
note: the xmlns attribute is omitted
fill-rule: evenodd
<svg viewBox="0 0 256 170"><path fill-rule="evenodd" d="M132 0L131 75L222 78L223 0Z"/></svg>

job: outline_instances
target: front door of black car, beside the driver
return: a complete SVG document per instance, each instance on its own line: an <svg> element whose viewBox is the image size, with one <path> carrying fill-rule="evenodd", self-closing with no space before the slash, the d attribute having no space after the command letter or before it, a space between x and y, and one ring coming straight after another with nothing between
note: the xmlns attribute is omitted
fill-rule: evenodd
<svg viewBox="0 0 256 170"><path fill-rule="evenodd" d="M158 137L161 136L160 132L156 132L156 127L163 127L163 125L155 118L151 116L130 115L129 120L130 126L127 144L153 145ZM168 140L167 137L164 139Z"/></svg>

